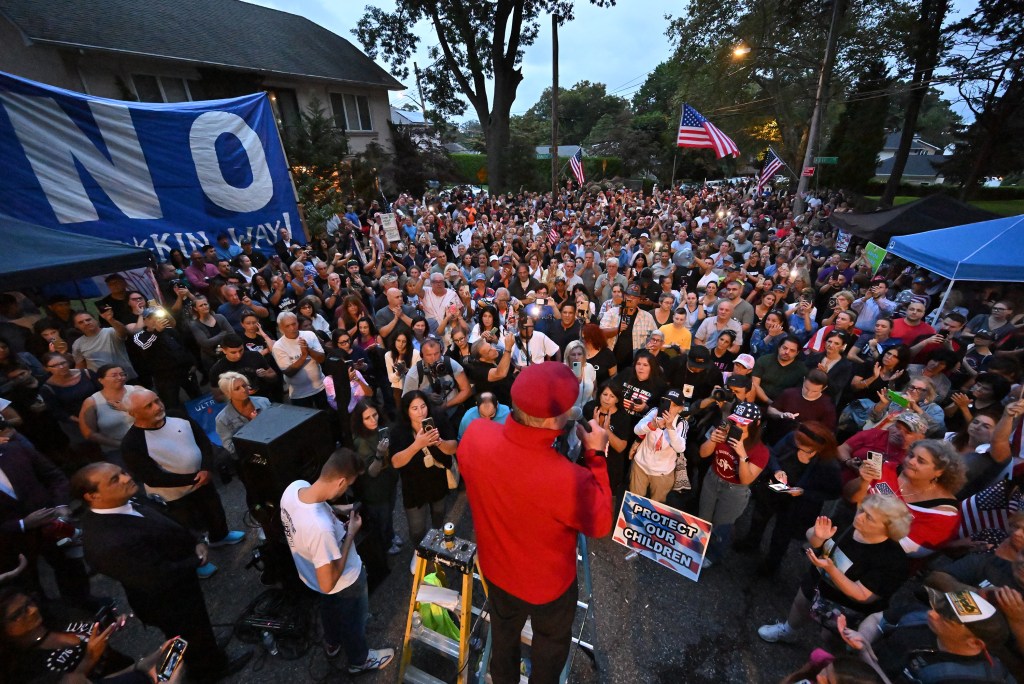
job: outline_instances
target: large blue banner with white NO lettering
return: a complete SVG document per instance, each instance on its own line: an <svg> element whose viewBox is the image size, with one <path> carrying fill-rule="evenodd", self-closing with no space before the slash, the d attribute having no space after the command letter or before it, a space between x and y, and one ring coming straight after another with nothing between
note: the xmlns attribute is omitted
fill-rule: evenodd
<svg viewBox="0 0 1024 684"><path fill-rule="evenodd" d="M266 93L124 102L0 73L0 212L187 257L225 232L302 241Z"/></svg>

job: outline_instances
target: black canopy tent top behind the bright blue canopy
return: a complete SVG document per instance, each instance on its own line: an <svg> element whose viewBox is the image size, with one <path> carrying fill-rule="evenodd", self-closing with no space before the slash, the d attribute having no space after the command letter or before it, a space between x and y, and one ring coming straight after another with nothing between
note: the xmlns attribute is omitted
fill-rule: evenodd
<svg viewBox="0 0 1024 684"><path fill-rule="evenodd" d="M867 214L833 214L829 221L838 228L876 245L888 245L896 236L911 236L952 225L977 223L998 218L947 195L929 195L902 207Z"/></svg>

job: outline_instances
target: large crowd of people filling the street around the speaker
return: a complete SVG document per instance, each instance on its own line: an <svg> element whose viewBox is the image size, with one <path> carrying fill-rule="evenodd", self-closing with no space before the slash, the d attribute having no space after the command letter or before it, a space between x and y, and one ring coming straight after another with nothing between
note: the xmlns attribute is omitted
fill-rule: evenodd
<svg viewBox="0 0 1024 684"><path fill-rule="evenodd" d="M572 409L607 434L609 510L629 490L709 520L705 572L760 553L767 536L759 572L806 574L763 640L796 641L815 623L863 658L817 653L809 672L869 661L863 681L905 669L945 681L928 679L941 662L1012 681L1024 645L1024 292L957 284L944 296L947 282L913 264L872 268L830 224L850 210L841 193L808 196L798 215L792 200L753 185L402 195L389 207L397 240L384 208L358 201L308 244L283 229L267 254L226 234L172 251L159 292L115 273L88 306L0 295L8 667L125 676L103 656L105 633L26 631L40 559L69 604L102 605L91 568L168 637L199 625L186 657L201 678L241 667L204 631L208 549L244 537L211 477L218 458L229 467L233 435L284 401L328 412L341 450L282 505L300 578L336 599L322 604L325 647L344 649L352 673L387 666L365 614L335 613L365 613L387 554L443 523L470 424L515 421L516 379L557 362L575 379ZM224 404L219 451L179 413L206 388ZM556 447L583 451L572 431ZM361 504L339 509L347 530L323 509L343 494ZM131 498L147 500L143 513ZM304 555L310 529L333 551ZM356 531L379 553L360 560ZM153 553L191 603L147 605L140 566L125 562L165 536ZM66 645L75 657L48 655Z"/></svg>

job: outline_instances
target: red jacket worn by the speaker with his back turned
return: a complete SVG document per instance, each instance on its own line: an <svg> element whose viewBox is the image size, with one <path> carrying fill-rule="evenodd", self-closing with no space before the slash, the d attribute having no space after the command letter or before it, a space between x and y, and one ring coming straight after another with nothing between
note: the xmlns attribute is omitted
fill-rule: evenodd
<svg viewBox="0 0 1024 684"><path fill-rule="evenodd" d="M557 430L473 421L459 443L487 582L527 603L548 603L577 579L577 532L611 531L611 486L604 457L582 465L551 447Z"/></svg>

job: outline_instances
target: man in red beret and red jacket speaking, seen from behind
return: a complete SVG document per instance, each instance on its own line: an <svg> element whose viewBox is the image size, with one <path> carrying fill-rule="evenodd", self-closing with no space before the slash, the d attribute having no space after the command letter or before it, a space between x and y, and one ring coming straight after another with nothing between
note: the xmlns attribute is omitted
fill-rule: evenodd
<svg viewBox="0 0 1024 684"><path fill-rule="evenodd" d="M569 422L580 381L564 364L529 366L512 385L504 425L477 420L459 444L487 583L495 684L519 681L519 636L534 629L530 682L557 682L571 643L577 605L577 533L611 530L607 433L578 429L582 464L552 447Z"/></svg>

